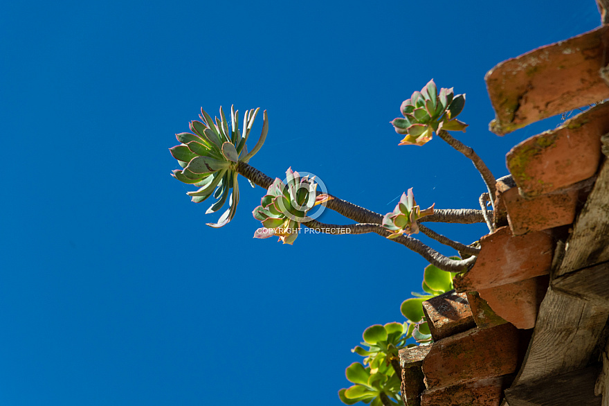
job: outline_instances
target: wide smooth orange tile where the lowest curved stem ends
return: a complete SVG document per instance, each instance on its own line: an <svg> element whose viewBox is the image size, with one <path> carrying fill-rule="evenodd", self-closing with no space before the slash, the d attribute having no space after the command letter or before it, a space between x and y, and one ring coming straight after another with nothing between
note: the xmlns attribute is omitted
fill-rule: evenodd
<svg viewBox="0 0 609 406"><path fill-rule="evenodd" d="M509 227L501 227L480 239L478 259L469 272L455 276L455 290L480 292L549 274L553 251L554 238L548 233L513 236Z"/></svg>

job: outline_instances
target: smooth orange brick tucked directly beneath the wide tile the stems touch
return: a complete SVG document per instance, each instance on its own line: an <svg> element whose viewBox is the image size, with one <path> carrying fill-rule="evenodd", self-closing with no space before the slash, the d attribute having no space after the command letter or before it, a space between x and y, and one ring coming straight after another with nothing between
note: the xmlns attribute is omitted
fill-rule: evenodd
<svg viewBox="0 0 609 406"><path fill-rule="evenodd" d="M545 297L549 276L543 275L480 290L480 297L502 319L517 328L534 328L539 305Z"/></svg>

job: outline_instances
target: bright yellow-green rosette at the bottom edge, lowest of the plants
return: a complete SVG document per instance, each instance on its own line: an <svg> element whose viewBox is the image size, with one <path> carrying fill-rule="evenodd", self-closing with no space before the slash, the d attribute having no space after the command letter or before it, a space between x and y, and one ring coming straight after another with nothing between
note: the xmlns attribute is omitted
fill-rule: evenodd
<svg viewBox="0 0 609 406"><path fill-rule="evenodd" d="M358 402L370 403L371 406L383 406L386 403L396 406L401 404L399 397L401 380L390 365L383 363L376 373L372 373L370 367L354 362L345 369L345 375L347 380L354 384L338 391L338 397L345 405Z"/></svg>

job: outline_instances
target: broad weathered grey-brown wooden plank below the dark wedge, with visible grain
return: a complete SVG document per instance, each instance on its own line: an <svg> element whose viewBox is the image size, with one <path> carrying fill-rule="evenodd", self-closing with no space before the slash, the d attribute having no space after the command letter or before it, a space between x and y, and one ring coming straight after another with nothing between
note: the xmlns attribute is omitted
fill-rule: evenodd
<svg viewBox="0 0 609 406"><path fill-rule="evenodd" d="M585 367L607 317L606 308L550 287L516 385Z"/></svg>

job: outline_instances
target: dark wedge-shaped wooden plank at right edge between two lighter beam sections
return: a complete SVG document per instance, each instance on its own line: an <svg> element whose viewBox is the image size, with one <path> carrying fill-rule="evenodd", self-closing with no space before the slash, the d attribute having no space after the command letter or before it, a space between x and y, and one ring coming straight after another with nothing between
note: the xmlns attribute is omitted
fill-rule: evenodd
<svg viewBox="0 0 609 406"><path fill-rule="evenodd" d="M560 276L552 281L552 288L609 307L609 262Z"/></svg>

